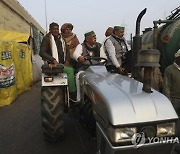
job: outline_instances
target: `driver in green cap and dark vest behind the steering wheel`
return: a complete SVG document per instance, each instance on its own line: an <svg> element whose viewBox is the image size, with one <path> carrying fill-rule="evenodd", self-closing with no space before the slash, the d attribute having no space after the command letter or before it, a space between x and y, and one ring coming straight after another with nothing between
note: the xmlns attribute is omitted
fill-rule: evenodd
<svg viewBox="0 0 180 154"><path fill-rule="evenodd" d="M86 61L86 57L100 57L101 52L103 52L101 44L96 42L96 34L94 31L86 32L84 37L84 42L76 47L73 54L74 60L78 62L78 68L81 68L81 71L78 70L76 74L77 101L80 101L79 75L87 68L84 67L83 64L89 63L89 61Z"/></svg>

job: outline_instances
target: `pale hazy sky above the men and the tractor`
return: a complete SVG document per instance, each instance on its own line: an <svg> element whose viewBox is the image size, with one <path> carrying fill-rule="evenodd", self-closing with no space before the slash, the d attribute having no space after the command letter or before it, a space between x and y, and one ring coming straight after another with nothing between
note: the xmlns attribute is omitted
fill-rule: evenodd
<svg viewBox="0 0 180 154"><path fill-rule="evenodd" d="M96 33L97 41L102 42L106 29L115 25L125 26L125 38L130 39L130 34L135 34L137 16L144 8L147 11L141 20L141 31L153 27L154 20L165 19L172 10L180 6L180 0L17 1L45 31L48 31L51 22L57 22L60 26L72 23L73 32L80 42L84 40L84 33L91 30Z"/></svg>

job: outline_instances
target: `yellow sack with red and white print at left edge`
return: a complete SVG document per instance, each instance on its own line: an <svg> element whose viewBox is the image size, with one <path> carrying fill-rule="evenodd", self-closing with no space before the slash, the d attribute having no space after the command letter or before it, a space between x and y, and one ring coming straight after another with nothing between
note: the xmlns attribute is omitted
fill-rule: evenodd
<svg viewBox="0 0 180 154"><path fill-rule="evenodd" d="M17 97L13 54L13 43L0 41L0 107Z"/></svg>

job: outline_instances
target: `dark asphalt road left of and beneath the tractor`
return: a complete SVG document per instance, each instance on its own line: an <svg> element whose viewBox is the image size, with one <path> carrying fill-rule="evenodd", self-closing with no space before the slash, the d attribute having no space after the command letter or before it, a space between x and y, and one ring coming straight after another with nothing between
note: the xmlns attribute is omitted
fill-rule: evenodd
<svg viewBox="0 0 180 154"><path fill-rule="evenodd" d="M65 115L65 140L44 141L41 127L40 82L9 106L0 108L1 154L95 154L96 141L78 121L76 107Z"/></svg>

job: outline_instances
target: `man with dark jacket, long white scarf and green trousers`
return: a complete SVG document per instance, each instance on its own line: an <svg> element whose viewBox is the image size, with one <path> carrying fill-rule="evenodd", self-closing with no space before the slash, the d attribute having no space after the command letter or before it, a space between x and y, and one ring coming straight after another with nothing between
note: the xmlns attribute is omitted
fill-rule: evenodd
<svg viewBox="0 0 180 154"><path fill-rule="evenodd" d="M68 87L70 96L76 92L74 80L74 70L68 67L70 64L70 54L67 45L59 33L59 25L51 23L49 25L49 33L43 38L39 55L49 64L63 64L64 72L68 76Z"/></svg>

